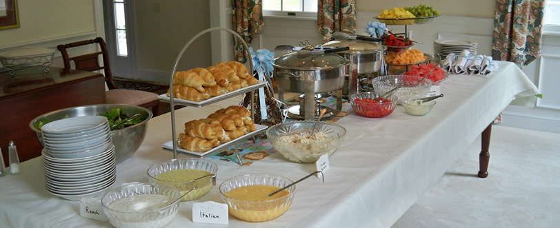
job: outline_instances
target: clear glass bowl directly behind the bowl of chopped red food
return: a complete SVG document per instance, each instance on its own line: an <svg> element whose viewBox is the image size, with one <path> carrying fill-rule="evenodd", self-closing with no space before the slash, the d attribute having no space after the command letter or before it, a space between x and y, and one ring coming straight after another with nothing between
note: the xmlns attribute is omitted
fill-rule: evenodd
<svg viewBox="0 0 560 228"><path fill-rule="evenodd" d="M425 97L430 92L432 81L430 81L430 79L424 79L419 85L417 85L421 80L421 76L387 75L378 76L377 78L372 79L372 85L377 94L383 94L392 88L397 87L399 83L402 83L403 87L400 87L394 92L394 95L397 96L398 99Z"/></svg>

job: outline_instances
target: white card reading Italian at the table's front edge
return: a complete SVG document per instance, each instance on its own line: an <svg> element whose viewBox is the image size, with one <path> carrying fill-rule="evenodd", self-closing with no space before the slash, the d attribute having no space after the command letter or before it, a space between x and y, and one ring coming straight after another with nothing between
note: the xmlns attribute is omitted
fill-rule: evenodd
<svg viewBox="0 0 560 228"><path fill-rule="evenodd" d="M228 219L228 205L225 203L192 203L192 222L227 225Z"/></svg>

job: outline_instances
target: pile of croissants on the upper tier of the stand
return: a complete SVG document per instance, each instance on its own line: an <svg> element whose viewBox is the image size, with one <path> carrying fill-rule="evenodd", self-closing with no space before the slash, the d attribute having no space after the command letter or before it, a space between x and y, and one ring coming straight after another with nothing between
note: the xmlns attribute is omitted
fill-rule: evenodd
<svg viewBox="0 0 560 228"><path fill-rule="evenodd" d="M229 61L209 68L194 68L175 72L173 96L177 99L199 102L227 92L256 85L255 79L243 63ZM168 90L169 94L170 90Z"/></svg>

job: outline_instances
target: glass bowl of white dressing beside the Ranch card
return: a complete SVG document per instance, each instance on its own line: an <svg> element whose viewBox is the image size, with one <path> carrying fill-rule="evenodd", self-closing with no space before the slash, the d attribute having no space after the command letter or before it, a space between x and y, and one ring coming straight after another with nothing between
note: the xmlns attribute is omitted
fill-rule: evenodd
<svg viewBox="0 0 560 228"><path fill-rule="evenodd" d="M124 185L101 198L114 227L165 227L177 216L179 189L157 183Z"/></svg>

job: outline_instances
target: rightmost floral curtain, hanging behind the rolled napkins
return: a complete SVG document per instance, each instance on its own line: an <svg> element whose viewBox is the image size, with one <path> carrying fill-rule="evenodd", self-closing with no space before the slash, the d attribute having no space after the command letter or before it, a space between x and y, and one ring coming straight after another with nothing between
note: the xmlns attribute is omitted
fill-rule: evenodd
<svg viewBox="0 0 560 228"><path fill-rule="evenodd" d="M511 61L523 69L541 56L544 1L496 1L492 59Z"/></svg>

